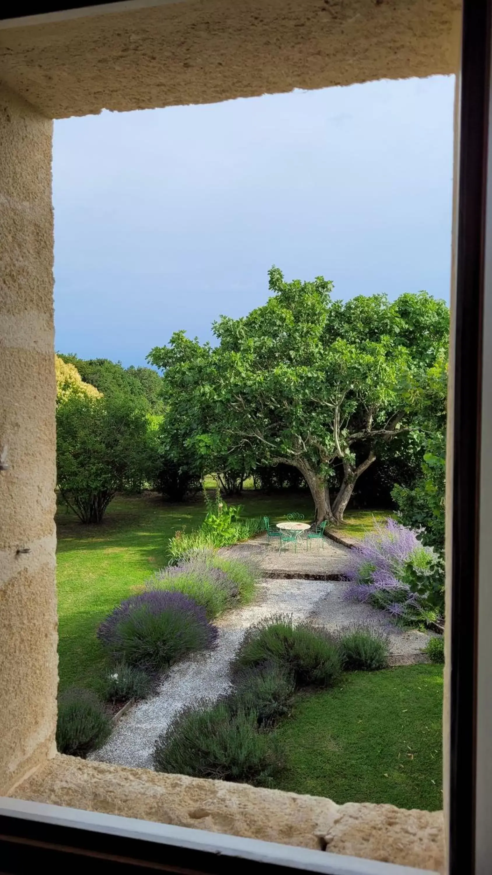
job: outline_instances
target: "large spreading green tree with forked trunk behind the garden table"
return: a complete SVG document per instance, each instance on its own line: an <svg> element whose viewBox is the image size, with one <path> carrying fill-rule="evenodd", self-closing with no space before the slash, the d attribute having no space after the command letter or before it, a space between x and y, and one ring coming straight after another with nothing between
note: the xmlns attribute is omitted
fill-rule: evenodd
<svg viewBox="0 0 492 875"><path fill-rule="evenodd" d="M322 276L288 283L272 268L272 297L214 323L218 346L177 332L148 357L163 369L180 447L209 471L224 460L232 471L294 466L318 521L343 519L358 477L386 444L423 427L446 375L446 304L425 291L343 303L332 288Z"/></svg>

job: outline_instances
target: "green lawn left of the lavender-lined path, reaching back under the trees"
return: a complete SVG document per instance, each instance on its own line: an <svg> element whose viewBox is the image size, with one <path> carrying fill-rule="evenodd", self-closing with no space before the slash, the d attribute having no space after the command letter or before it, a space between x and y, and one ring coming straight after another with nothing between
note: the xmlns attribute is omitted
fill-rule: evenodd
<svg viewBox="0 0 492 875"><path fill-rule="evenodd" d="M245 516L267 514L273 521L299 511L309 519L308 493L271 497L246 493ZM232 502L235 503L235 502ZM95 637L100 620L135 592L153 570L168 563L167 543L178 528L187 531L204 519L200 496L167 504L155 495L117 498L100 526L83 526L61 507L57 515L60 688L97 686L105 655Z"/></svg>

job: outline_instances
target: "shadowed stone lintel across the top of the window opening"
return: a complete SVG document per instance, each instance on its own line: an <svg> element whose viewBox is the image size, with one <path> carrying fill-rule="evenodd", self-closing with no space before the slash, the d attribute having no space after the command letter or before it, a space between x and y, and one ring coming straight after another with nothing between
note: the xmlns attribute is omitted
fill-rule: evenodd
<svg viewBox="0 0 492 875"><path fill-rule="evenodd" d="M46 116L455 73L460 0L181 0L0 29L0 78Z"/></svg>

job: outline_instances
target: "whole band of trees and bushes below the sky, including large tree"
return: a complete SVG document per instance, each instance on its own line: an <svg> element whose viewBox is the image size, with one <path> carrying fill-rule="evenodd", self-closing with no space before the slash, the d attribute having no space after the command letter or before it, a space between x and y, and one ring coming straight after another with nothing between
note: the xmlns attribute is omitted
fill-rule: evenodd
<svg viewBox="0 0 492 875"><path fill-rule="evenodd" d="M341 302L322 276L288 283L276 268L269 290L214 323L215 344L176 332L154 348L160 374L59 356L59 491L83 521L124 489L183 500L207 473L225 493L250 475L265 490L307 485L317 521L342 521L350 500L425 515L443 458L447 305L424 291Z"/></svg>

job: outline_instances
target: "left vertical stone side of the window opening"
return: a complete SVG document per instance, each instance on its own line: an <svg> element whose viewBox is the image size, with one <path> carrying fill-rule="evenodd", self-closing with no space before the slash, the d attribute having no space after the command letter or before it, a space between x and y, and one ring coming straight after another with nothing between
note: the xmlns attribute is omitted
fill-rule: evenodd
<svg viewBox="0 0 492 875"><path fill-rule="evenodd" d="M0 90L0 794L56 713L52 122ZM29 550L29 552L17 551Z"/></svg>

